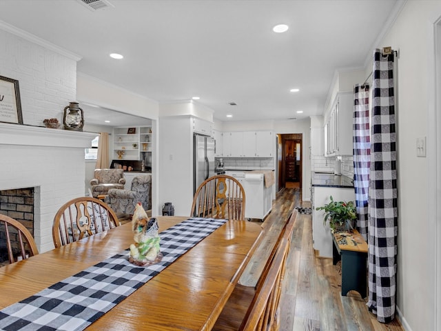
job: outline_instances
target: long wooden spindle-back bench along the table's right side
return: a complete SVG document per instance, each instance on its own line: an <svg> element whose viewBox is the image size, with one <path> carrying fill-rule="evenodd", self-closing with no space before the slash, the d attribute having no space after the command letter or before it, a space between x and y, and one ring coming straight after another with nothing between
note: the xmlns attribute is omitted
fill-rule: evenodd
<svg viewBox="0 0 441 331"><path fill-rule="evenodd" d="M212 330L263 331L278 330L279 302L282 281L297 211L295 210L280 232L267 264L255 288L237 284Z"/></svg>

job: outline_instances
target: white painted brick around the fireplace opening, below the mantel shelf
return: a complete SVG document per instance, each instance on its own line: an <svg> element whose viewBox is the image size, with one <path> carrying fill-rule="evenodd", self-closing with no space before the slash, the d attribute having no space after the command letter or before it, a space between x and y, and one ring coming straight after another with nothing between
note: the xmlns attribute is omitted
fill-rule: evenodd
<svg viewBox="0 0 441 331"><path fill-rule="evenodd" d="M7 155L0 161L0 189L39 188L34 237L39 252L51 250L55 213L63 203L84 195L85 167L78 162L84 158L84 149L14 145L0 145L0 149Z"/></svg>

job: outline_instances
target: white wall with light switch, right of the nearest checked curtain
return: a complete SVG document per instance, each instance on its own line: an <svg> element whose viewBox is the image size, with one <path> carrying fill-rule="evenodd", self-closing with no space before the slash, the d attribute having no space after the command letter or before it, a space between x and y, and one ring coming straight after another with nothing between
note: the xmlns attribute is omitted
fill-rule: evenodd
<svg viewBox="0 0 441 331"><path fill-rule="evenodd" d="M435 224L429 219L428 159L416 157L416 139L427 137L433 21L441 1L407 1L391 30L376 45L399 51L396 119L398 131L398 309L407 330L441 330L435 325ZM434 141L428 139L428 149ZM439 170L438 170L439 171ZM439 201L438 201L439 203Z"/></svg>

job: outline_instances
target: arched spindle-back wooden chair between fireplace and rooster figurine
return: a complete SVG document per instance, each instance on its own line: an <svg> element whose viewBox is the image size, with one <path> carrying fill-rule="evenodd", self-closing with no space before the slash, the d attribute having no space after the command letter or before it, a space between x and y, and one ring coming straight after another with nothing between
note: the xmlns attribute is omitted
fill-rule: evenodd
<svg viewBox="0 0 441 331"><path fill-rule="evenodd" d="M93 197L79 197L66 202L55 214L52 239L59 248L119 225L109 205Z"/></svg>

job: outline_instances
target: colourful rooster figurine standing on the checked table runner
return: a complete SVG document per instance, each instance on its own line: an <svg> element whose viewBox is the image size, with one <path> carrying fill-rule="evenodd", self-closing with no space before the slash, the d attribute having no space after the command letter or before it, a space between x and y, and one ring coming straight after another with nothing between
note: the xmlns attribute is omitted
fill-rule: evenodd
<svg viewBox="0 0 441 331"><path fill-rule="evenodd" d="M135 206L132 231L135 243L130 245L130 263L150 265L161 261L163 254L159 250L158 221L149 220L141 202Z"/></svg>

